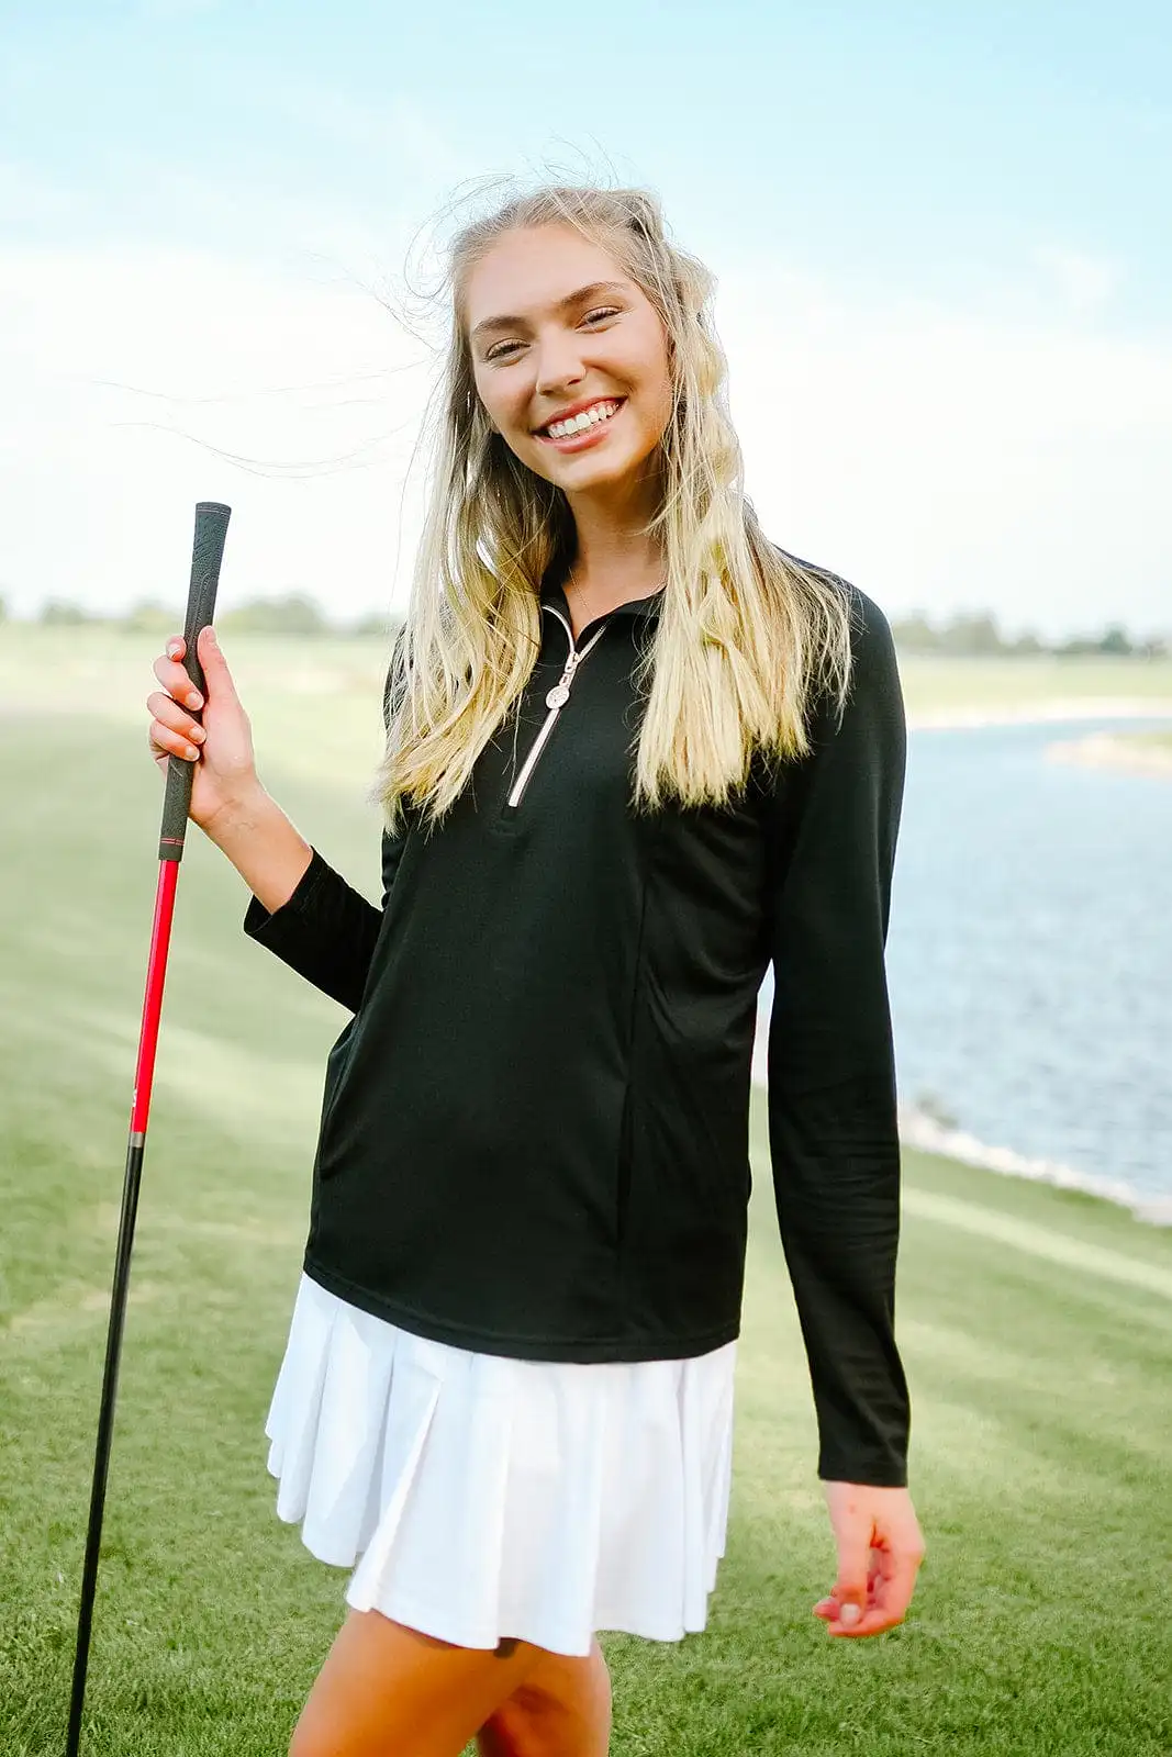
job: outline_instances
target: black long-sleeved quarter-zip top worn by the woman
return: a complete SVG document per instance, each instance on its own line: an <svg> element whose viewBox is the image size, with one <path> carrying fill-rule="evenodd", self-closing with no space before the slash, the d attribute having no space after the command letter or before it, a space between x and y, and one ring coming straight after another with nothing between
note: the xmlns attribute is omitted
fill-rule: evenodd
<svg viewBox="0 0 1172 1757"><path fill-rule="evenodd" d="M884 949L905 771L891 629L849 597L842 720L720 808L629 808L636 638L546 585L524 699L439 829L383 831L376 908L315 847L244 931L350 1014L304 1269L402 1328L532 1360L740 1334L756 1001L777 1216L824 1479L905 1485L900 1144ZM546 692L580 655L561 708ZM557 698L555 698L557 699Z"/></svg>

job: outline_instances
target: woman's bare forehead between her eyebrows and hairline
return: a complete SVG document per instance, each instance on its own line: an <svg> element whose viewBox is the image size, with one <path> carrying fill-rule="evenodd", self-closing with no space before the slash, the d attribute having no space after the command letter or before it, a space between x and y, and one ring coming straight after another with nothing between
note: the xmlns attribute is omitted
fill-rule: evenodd
<svg viewBox="0 0 1172 1757"><path fill-rule="evenodd" d="M466 329L496 316L541 316L592 281L624 281L636 290L622 264L576 227L506 232L469 272Z"/></svg>

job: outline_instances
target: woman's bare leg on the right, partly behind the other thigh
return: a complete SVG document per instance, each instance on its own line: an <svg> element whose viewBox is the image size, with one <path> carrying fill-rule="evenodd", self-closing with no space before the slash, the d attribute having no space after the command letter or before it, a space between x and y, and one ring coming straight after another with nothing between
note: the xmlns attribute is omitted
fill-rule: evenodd
<svg viewBox="0 0 1172 1757"><path fill-rule="evenodd" d="M606 1757L610 1673L597 1638L585 1659L541 1653L483 1724L480 1757Z"/></svg>

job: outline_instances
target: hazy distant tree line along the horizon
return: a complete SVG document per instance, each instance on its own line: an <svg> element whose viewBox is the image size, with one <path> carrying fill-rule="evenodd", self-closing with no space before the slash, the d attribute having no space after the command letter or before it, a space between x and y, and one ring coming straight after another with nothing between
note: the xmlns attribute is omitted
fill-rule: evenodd
<svg viewBox="0 0 1172 1757"><path fill-rule="evenodd" d="M4 622L5 613L5 601L0 596L0 622ZM35 620L44 624L98 622L104 627L128 629L139 634L165 634L177 625L181 615L183 611L174 604L169 608L158 599L148 597L116 615L86 610L84 604L65 597L49 597ZM223 634L387 636L395 620L390 613L364 613L350 620L330 620L307 592L286 592L283 597L253 597L234 610L225 610L216 617L216 627ZM914 610L910 617L893 617L891 633L900 652L958 657L1105 654L1121 659L1163 659L1172 652L1168 634L1132 638L1121 622L1109 622L1100 634L1072 634L1053 641L1030 631L1007 636L1002 634L996 617L988 610L958 611L940 624L930 622L924 611Z"/></svg>

